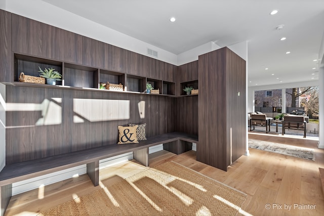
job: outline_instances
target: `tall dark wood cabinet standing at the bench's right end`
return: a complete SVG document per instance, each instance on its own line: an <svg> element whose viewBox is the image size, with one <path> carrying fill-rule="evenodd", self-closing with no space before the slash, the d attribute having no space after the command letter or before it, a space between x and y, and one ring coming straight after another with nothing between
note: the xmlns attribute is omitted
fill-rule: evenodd
<svg viewBox="0 0 324 216"><path fill-rule="evenodd" d="M197 160L222 170L245 153L246 62L228 48L198 58Z"/></svg>

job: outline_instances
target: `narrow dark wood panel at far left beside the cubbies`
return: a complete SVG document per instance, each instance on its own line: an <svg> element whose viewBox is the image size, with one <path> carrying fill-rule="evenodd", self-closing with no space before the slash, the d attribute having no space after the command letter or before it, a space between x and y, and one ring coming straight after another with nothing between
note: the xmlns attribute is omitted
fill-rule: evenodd
<svg viewBox="0 0 324 216"><path fill-rule="evenodd" d="M11 13L0 10L0 81L12 82Z"/></svg>

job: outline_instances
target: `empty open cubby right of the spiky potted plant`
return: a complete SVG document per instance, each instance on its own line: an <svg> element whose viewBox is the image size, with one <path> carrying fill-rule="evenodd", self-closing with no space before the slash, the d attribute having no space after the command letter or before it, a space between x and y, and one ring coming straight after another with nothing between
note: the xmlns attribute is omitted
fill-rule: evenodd
<svg viewBox="0 0 324 216"><path fill-rule="evenodd" d="M64 63L64 85L98 89L98 69Z"/></svg>

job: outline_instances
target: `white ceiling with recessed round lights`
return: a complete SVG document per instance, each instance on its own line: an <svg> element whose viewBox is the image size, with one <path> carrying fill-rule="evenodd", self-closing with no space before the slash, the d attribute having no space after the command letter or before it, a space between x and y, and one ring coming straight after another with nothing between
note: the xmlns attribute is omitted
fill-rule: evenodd
<svg viewBox="0 0 324 216"><path fill-rule="evenodd" d="M324 0L44 2L177 55L210 41L224 47L247 40L251 87L318 79L313 60L324 31ZM274 9L278 13L269 15ZM275 30L278 25L285 27Z"/></svg>

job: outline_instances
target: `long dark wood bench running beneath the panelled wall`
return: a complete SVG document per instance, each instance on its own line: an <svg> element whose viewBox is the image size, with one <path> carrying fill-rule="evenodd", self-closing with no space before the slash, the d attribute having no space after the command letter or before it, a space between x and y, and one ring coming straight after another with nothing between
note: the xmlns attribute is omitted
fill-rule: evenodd
<svg viewBox="0 0 324 216"><path fill-rule="evenodd" d="M12 183L43 176L55 171L87 164L87 174L95 186L99 185L99 160L133 152L134 159L148 166L148 149L163 143L163 148L181 154L197 143L195 135L168 133L147 138L137 144L106 145L35 160L6 165L0 172L1 215L4 215L12 195ZM191 144L190 144L191 143Z"/></svg>

